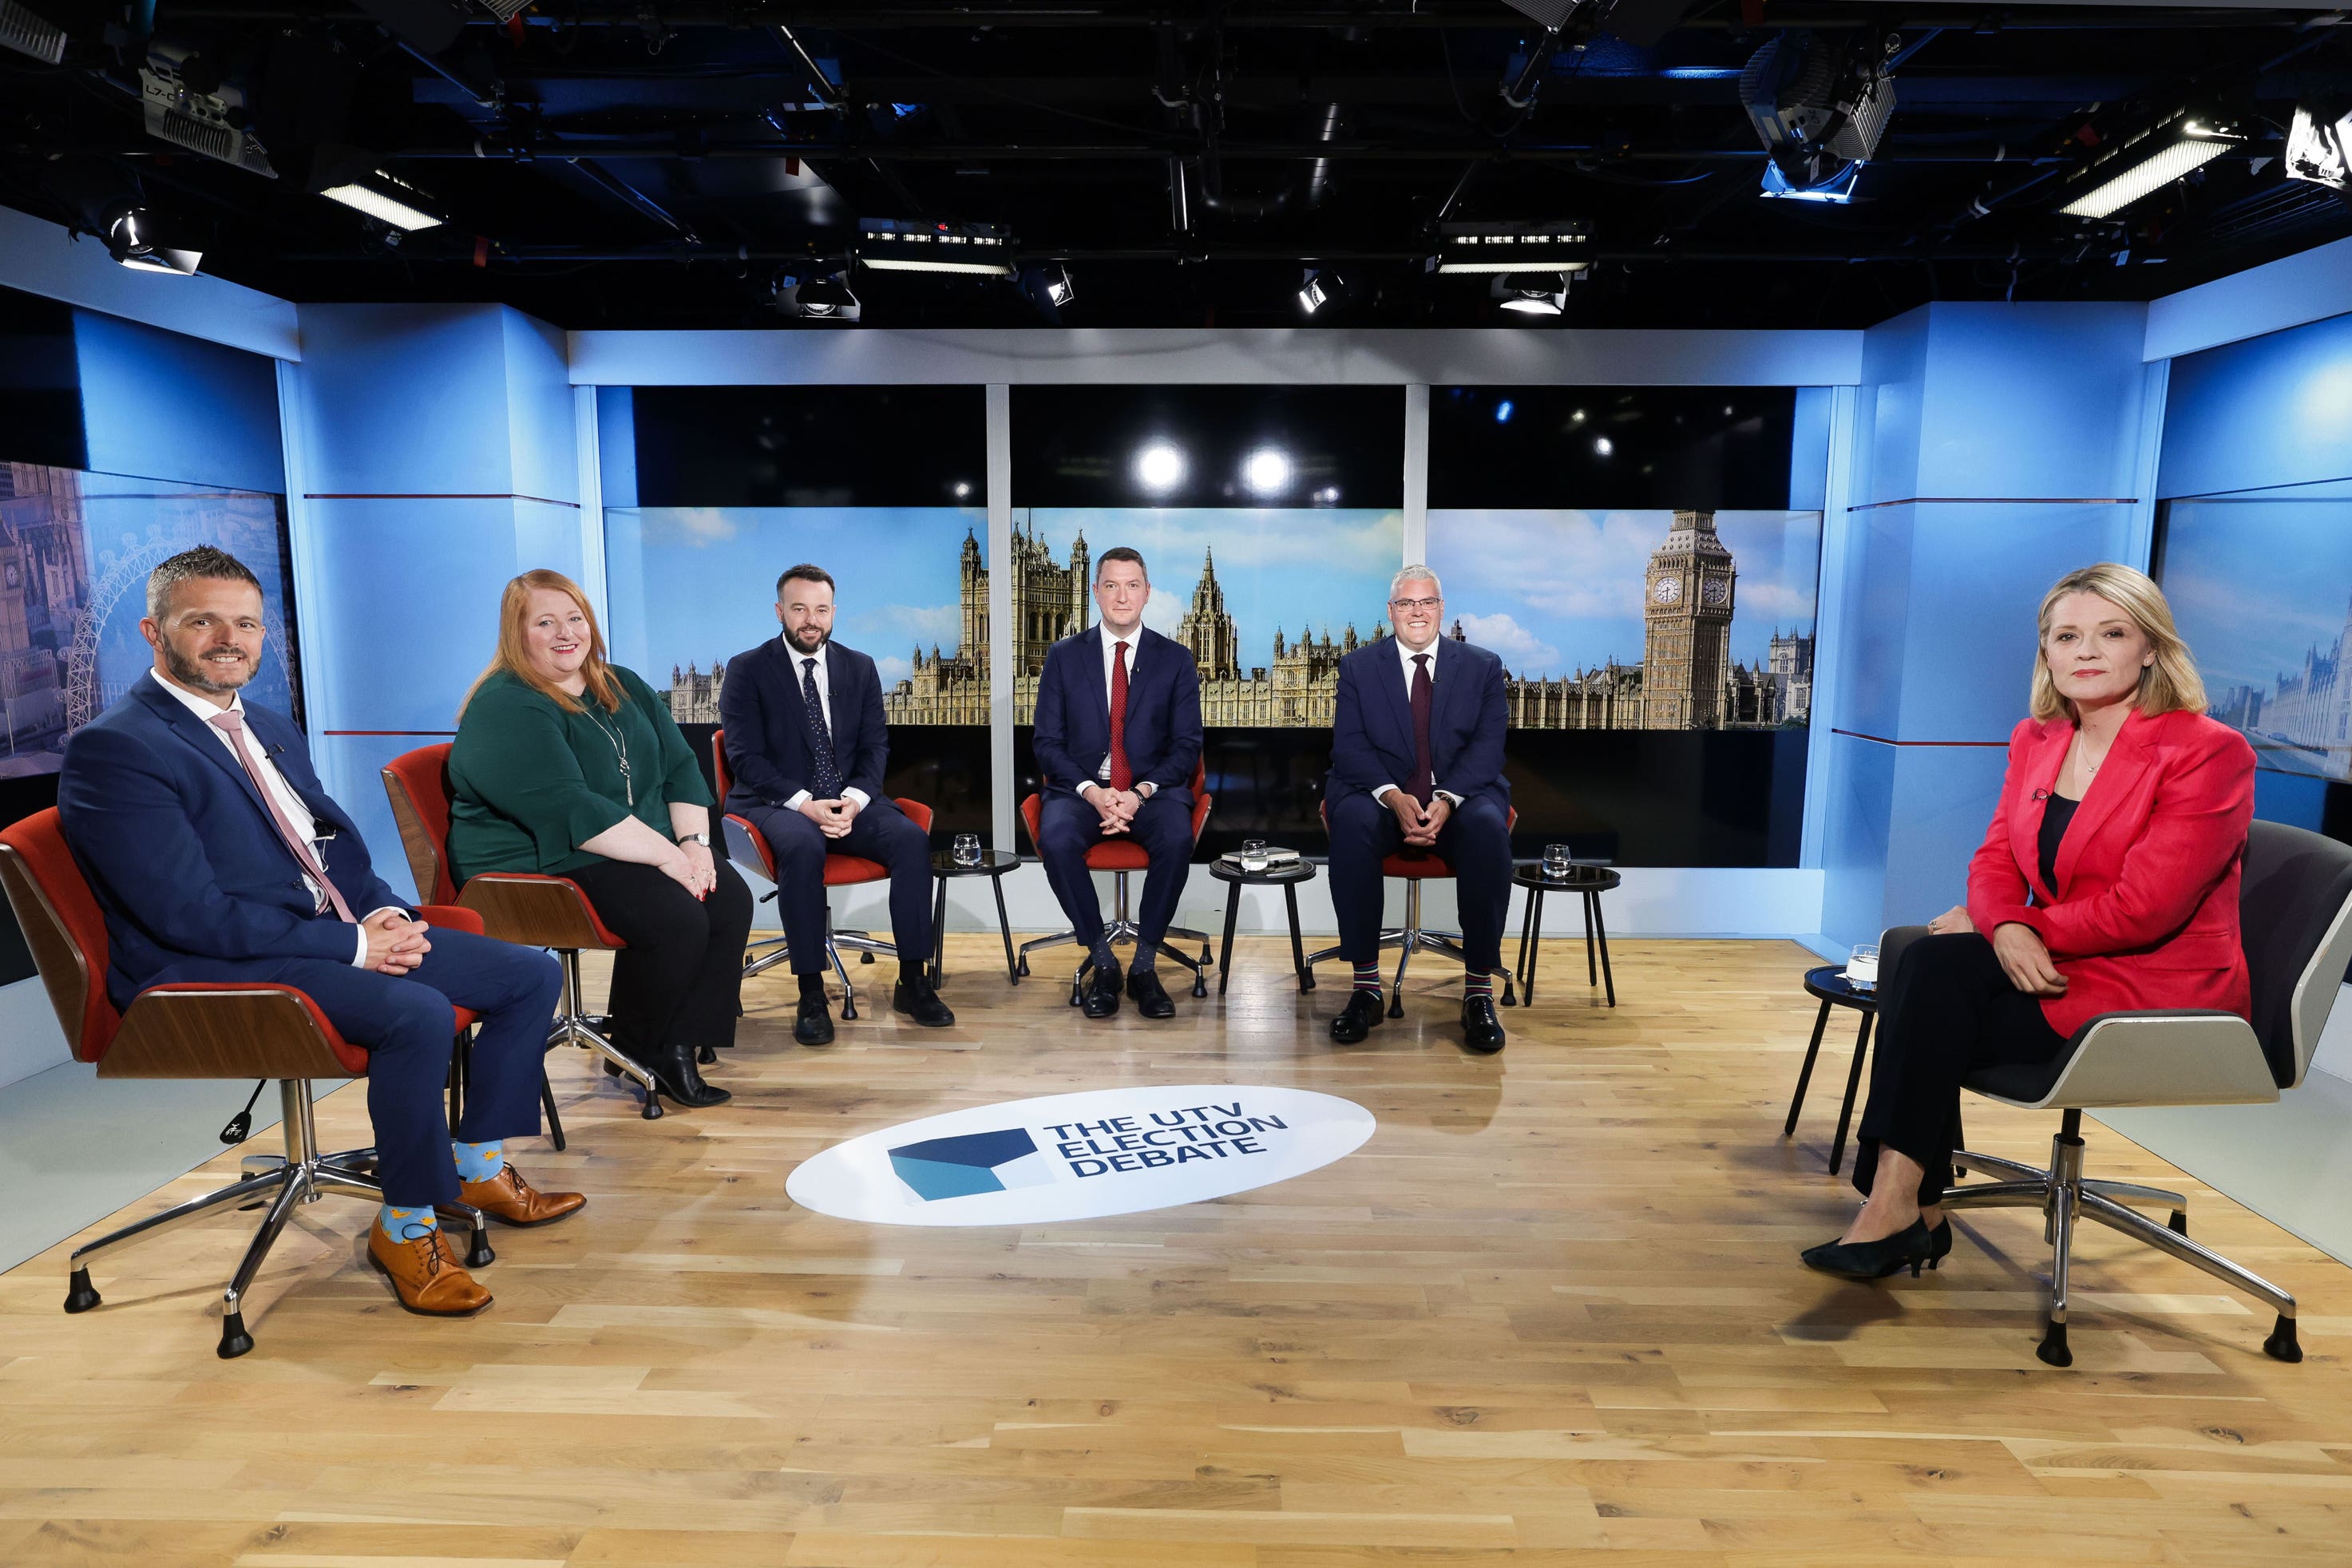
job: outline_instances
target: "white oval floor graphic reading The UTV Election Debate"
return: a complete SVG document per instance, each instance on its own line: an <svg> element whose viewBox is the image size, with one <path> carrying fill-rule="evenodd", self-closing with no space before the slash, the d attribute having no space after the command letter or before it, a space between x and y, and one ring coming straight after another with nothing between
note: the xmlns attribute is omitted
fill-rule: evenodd
<svg viewBox="0 0 2352 1568"><path fill-rule="evenodd" d="M1094 1088L877 1128L804 1161L786 1192L870 1225L1098 1220L1287 1182L1371 1133L1362 1105L1305 1088Z"/></svg>

